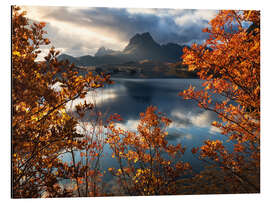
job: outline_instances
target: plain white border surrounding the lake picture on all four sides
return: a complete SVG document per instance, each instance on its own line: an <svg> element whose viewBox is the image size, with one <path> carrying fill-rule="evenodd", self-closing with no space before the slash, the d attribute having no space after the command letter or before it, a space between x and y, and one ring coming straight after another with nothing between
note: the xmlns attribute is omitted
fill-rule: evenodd
<svg viewBox="0 0 270 203"><path fill-rule="evenodd" d="M3 2L3 3L2 3ZM138 201L182 201L182 202L264 202L269 197L269 76L270 66L265 55L269 55L269 27L267 24L270 19L269 7L267 1L254 0L6 0L1 1L1 200L7 201L25 201L10 199L10 6L11 5L51 5L51 6L87 6L87 7L133 7L133 8L182 8L182 9L256 9L261 10L262 18L262 41L261 41L261 95L262 95L262 162L261 162L261 194L255 195L191 195L191 196L155 196L155 197L102 197L102 198L65 198L65 199L46 199L46 201L66 202L138 202ZM3 46L4 45L4 46ZM2 130L4 127L4 130ZM2 141L3 140L3 141ZM149 199L150 198L150 199ZM42 199L30 199L27 202L43 201ZM269 200L268 200L269 201Z"/></svg>

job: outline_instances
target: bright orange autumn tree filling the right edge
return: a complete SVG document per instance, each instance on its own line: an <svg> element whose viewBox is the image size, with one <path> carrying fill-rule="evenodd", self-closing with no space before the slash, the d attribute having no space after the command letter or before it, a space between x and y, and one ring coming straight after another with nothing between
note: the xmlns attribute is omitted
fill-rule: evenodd
<svg viewBox="0 0 270 203"><path fill-rule="evenodd" d="M214 181L204 172L195 177L194 185L205 179L208 193L217 193L218 187L227 193L259 192L260 12L220 11L204 32L209 38L202 45L185 48L183 55L183 63L204 80L204 89L191 86L180 95L219 116L212 125L227 137L233 150L220 140L206 140L194 148L192 152L219 173ZM222 101L217 102L217 97Z"/></svg>

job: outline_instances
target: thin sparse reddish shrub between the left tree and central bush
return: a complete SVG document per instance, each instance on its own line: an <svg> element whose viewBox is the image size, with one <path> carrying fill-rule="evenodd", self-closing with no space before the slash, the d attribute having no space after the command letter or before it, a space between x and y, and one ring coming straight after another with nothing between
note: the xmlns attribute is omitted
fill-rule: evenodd
<svg viewBox="0 0 270 203"><path fill-rule="evenodd" d="M78 130L83 135L80 140L83 142L82 149L71 149L71 165L75 169L73 176L76 176L76 191L78 196L95 197L107 195L104 191L106 183L102 181L104 171L101 170L101 159L104 156L106 128L106 113L102 113L97 105L97 92L92 89L88 92L87 103L75 105L70 103L70 108L75 107L72 115L79 120ZM71 111L70 111L71 112ZM85 121L86 120L86 121ZM76 153L80 156L76 156Z"/></svg>

